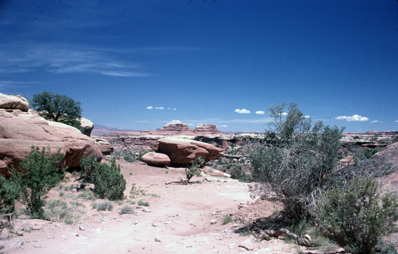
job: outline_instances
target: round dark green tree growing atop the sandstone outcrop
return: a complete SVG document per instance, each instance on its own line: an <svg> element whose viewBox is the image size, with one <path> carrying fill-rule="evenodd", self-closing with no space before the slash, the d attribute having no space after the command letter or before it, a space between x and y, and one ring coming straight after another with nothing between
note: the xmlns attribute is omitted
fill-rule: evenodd
<svg viewBox="0 0 398 254"><path fill-rule="evenodd" d="M80 102L75 102L68 96L42 92L33 95L30 105L47 120L64 123L81 130L82 108Z"/></svg>

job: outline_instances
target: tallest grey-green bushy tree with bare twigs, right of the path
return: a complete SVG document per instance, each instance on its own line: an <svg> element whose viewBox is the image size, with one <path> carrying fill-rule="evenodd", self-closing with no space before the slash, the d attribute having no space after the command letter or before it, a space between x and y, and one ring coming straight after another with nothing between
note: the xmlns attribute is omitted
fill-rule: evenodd
<svg viewBox="0 0 398 254"><path fill-rule="evenodd" d="M291 103L287 112L283 102L269 108L273 129L265 134L266 144L250 154L252 197L279 198L285 215L300 221L310 217L314 196L335 183L341 172L335 171L344 128L324 126L311 120Z"/></svg>

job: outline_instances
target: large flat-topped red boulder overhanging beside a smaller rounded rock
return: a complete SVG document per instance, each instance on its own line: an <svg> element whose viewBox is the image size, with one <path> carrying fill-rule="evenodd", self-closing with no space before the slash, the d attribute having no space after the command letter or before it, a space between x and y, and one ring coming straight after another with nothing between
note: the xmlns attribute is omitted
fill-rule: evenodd
<svg viewBox="0 0 398 254"><path fill-rule="evenodd" d="M178 165L188 165L199 156L208 162L224 155L220 148L211 144L181 138L158 139L158 143L151 148L158 153L166 154L171 163Z"/></svg>

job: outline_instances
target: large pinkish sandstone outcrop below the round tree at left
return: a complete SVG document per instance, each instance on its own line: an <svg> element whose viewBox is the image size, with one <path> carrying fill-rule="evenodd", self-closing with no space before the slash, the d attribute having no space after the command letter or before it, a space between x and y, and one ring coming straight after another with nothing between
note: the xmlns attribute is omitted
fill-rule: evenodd
<svg viewBox="0 0 398 254"><path fill-rule="evenodd" d="M19 109L21 104L8 103L3 95L1 98L2 105L7 106L0 107L0 174L3 176L10 176L11 166L18 168L31 146L49 147L51 153L60 148L60 153L65 155L61 166L78 167L80 160L87 156L96 156L101 160L101 150L95 140L78 129L47 121L35 111Z"/></svg>

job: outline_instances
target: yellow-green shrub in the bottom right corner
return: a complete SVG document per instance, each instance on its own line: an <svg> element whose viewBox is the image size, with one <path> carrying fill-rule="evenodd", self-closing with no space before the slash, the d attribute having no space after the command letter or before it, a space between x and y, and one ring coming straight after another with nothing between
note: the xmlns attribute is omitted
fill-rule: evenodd
<svg viewBox="0 0 398 254"><path fill-rule="evenodd" d="M393 192L380 195L378 189L377 180L357 177L328 190L318 206L320 223L342 235L353 253L373 253L380 237L396 230L397 196Z"/></svg>

